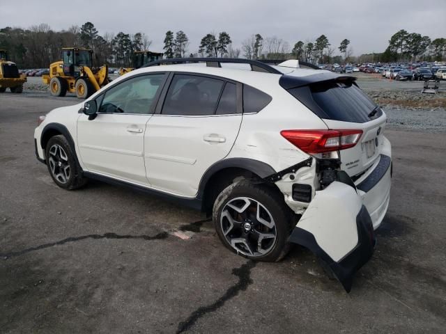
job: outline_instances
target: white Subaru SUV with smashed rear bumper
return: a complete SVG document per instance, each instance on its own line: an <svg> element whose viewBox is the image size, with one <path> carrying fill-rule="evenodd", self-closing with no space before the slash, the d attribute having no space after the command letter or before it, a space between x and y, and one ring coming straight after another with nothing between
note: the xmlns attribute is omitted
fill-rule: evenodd
<svg viewBox="0 0 446 334"><path fill-rule="evenodd" d="M305 246L350 291L389 204L387 118L354 77L309 67L155 61L41 116L36 155L63 189L94 178L203 210L250 259Z"/></svg>

